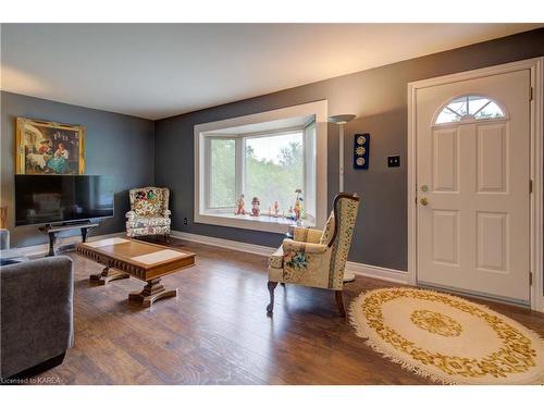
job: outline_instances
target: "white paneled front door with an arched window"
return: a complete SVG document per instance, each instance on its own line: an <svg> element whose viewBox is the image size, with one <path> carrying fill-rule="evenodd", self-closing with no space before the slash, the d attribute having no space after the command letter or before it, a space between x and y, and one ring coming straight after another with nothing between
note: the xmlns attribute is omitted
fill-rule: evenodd
<svg viewBox="0 0 544 408"><path fill-rule="evenodd" d="M529 70L417 90L418 283L529 301Z"/></svg>

